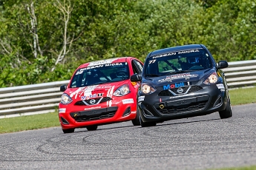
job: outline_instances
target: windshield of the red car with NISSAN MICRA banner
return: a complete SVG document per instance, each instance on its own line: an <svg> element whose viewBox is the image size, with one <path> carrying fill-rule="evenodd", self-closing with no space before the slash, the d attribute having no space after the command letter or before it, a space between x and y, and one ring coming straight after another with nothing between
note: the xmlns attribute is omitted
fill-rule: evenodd
<svg viewBox="0 0 256 170"><path fill-rule="evenodd" d="M93 65L76 70L70 87L75 88L124 81L128 80L129 77L127 62Z"/></svg>

